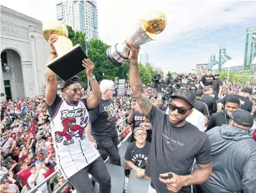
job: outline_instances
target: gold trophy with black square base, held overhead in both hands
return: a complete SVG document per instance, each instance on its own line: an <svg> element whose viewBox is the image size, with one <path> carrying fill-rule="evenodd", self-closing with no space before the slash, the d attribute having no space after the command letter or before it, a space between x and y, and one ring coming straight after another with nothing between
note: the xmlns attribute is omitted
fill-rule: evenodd
<svg viewBox="0 0 256 193"><path fill-rule="evenodd" d="M51 34L58 35L58 40L54 43L58 56L46 65L66 81L84 70L82 60L88 57L79 44L73 47L68 39L68 29L60 21L43 23L43 37L48 41Z"/></svg>

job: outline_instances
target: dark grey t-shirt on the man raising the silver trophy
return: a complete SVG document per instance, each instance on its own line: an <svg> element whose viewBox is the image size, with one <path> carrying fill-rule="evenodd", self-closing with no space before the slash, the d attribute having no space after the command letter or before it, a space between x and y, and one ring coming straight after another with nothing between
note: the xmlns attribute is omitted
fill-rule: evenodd
<svg viewBox="0 0 256 193"><path fill-rule="evenodd" d="M151 178L151 186L156 192L168 192L159 175L174 172L177 175L190 175L194 158L199 165L212 161L208 135L199 131L191 123L176 128L170 124L169 116L153 106L148 119L152 124L153 138L145 175ZM190 192L190 186L183 187L180 193Z"/></svg>

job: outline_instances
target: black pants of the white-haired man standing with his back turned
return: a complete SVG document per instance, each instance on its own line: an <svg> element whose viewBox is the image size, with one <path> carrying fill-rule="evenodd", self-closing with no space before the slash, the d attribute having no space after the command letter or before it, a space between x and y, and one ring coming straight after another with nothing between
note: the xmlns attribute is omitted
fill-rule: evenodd
<svg viewBox="0 0 256 193"><path fill-rule="evenodd" d="M96 140L97 148L106 150L109 160L113 165L121 166L120 155L118 153L118 136L106 138L106 136L93 136Z"/></svg>

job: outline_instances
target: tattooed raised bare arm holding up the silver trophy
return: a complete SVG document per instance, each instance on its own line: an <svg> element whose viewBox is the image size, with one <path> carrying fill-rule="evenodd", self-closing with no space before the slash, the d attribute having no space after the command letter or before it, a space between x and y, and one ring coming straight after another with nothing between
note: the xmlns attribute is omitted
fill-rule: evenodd
<svg viewBox="0 0 256 193"><path fill-rule="evenodd" d="M130 87L133 91L133 95L135 96L136 101L138 102L141 111L146 116L152 109L153 104L151 103L148 96L143 93L143 84L140 80L140 74L138 70L138 53L140 48L134 47L129 43L126 43L128 48L130 48Z"/></svg>

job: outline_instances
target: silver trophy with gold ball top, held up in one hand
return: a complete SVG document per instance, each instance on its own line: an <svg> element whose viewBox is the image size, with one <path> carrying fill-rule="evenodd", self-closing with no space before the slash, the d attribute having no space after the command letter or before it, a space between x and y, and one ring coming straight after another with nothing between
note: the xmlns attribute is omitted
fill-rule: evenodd
<svg viewBox="0 0 256 193"><path fill-rule="evenodd" d="M155 35L161 33L166 26L166 16L162 11L151 11L145 18L140 19L135 29L126 40L132 45L143 45L155 40ZM130 49L123 43L116 43L116 45L111 46L107 50L108 60L111 61L113 65L122 67L126 60L128 59L128 53Z"/></svg>

